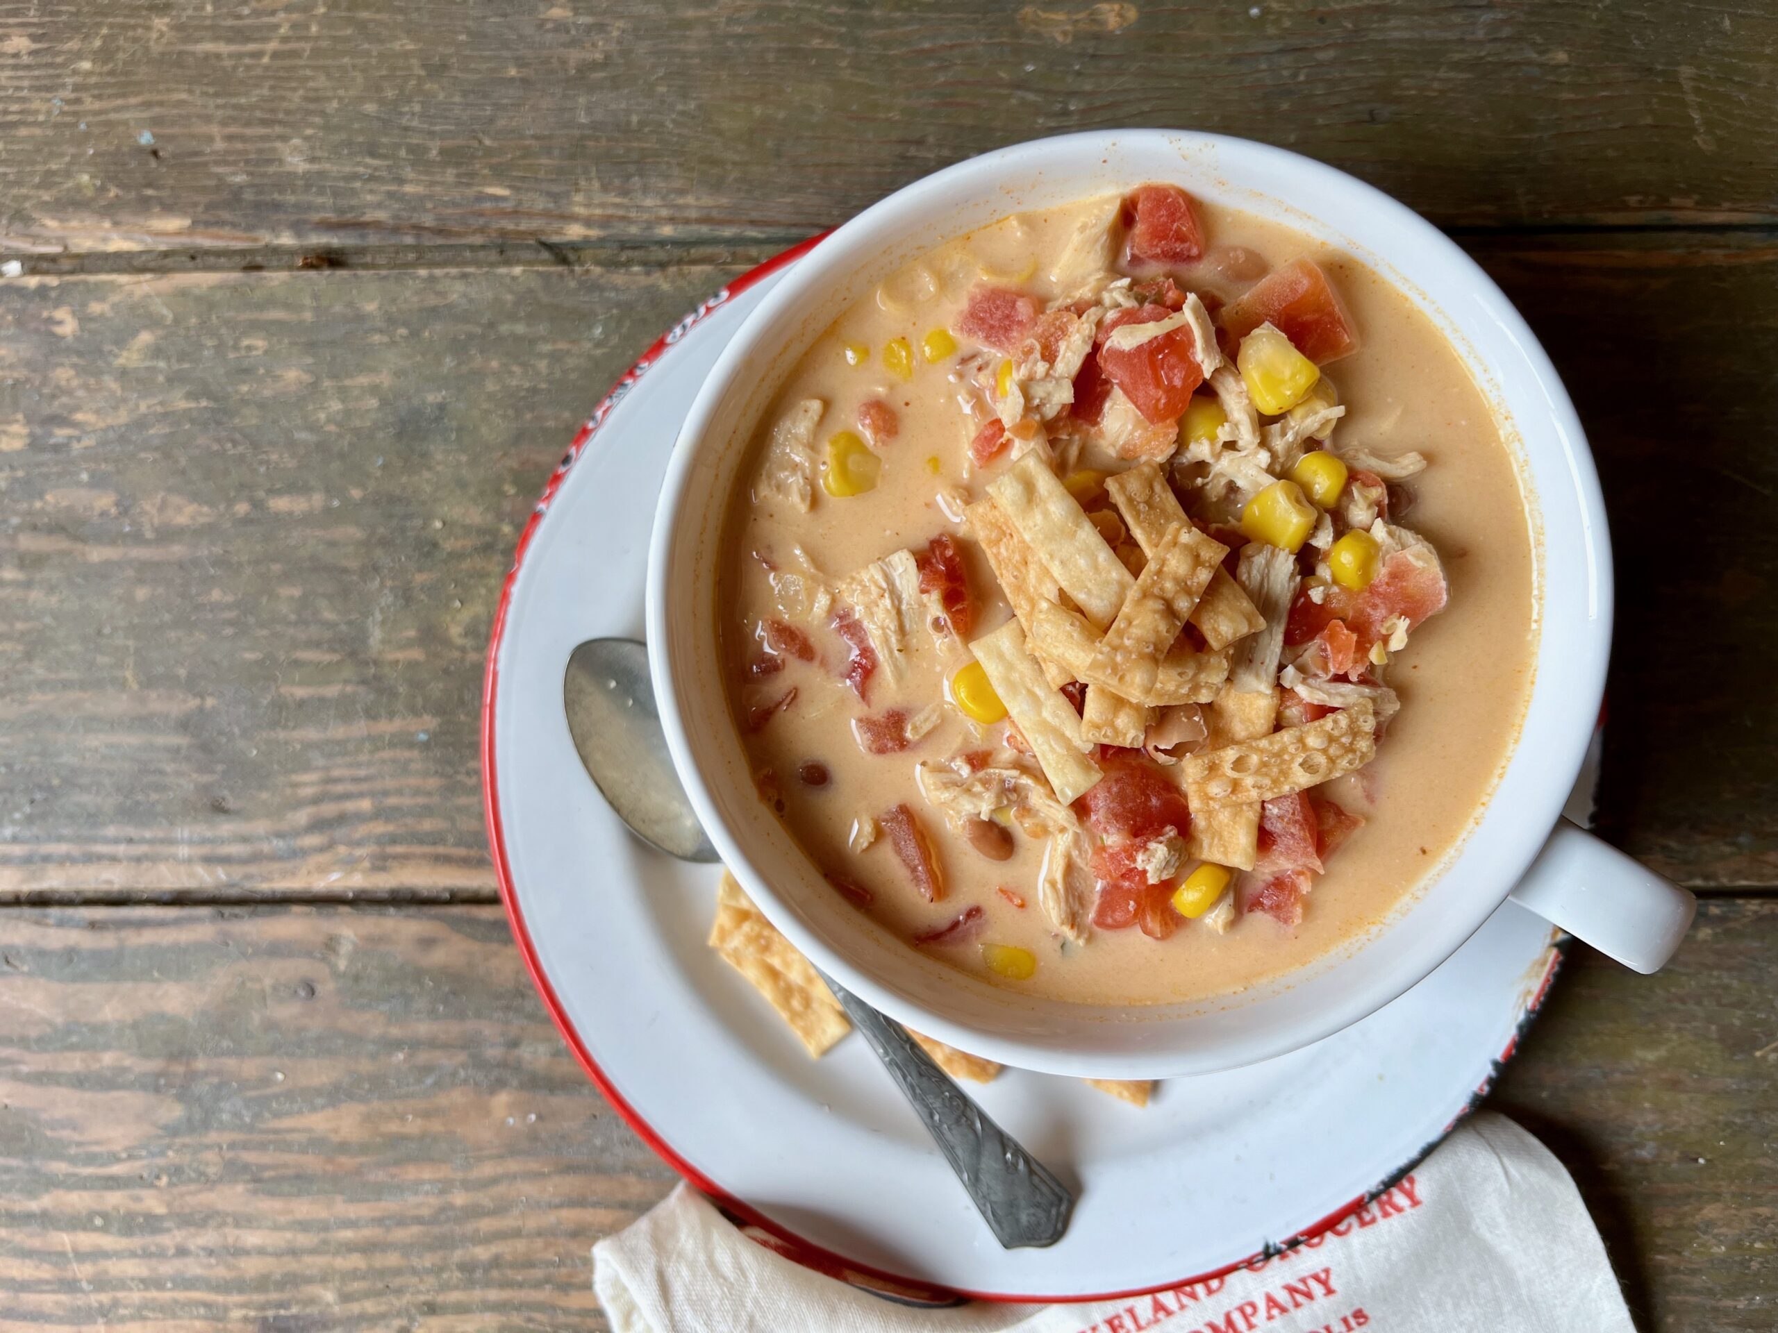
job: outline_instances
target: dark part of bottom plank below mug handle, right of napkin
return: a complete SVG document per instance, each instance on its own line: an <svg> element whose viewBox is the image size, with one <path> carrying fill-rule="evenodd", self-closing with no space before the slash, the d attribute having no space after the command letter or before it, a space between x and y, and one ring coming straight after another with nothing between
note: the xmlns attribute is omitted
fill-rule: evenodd
<svg viewBox="0 0 1778 1333"><path fill-rule="evenodd" d="M1664 972L1575 949L1492 1106L1581 1185L1638 1328L1778 1308L1778 901L1709 901Z"/></svg>

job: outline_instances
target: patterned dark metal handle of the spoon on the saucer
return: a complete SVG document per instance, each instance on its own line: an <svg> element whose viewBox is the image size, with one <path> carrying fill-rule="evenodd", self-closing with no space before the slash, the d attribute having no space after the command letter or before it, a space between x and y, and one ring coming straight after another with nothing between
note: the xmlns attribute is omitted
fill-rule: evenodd
<svg viewBox="0 0 1778 1333"><path fill-rule="evenodd" d="M901 1024L823 972L852 1024L882 1059L949 1161L969 1200L1006 1249L1053 1246L1069 1230L1074 1196L932 1063Z"/></svg>

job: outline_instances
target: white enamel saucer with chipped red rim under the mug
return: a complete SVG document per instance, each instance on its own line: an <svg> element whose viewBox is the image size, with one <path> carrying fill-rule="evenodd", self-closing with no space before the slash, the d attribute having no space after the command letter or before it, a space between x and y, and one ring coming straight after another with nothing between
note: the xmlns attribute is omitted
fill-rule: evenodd
<svg viewBox="0 0 1778 1333"><path fill-rule="evenodd" d="M1005 1251L857 1038L811 1061L704 946L717 873L633 839L562 713L569 652L642 635L649 524L685 409L809 242L681 320L599 403L519 539L482 714L487 830L512 931L581 1065L635 1130L791 1257L901 1296L1085 1299L1173 1287L1332 1226L1488 1090L1561 962L1502 906L1355 1027L1136 1109L1008 1070L971 1093L1077 1185L1067 1237ZM597 432L597 434L594 434ZM761 816L766 818L766 816Z"/></svg>

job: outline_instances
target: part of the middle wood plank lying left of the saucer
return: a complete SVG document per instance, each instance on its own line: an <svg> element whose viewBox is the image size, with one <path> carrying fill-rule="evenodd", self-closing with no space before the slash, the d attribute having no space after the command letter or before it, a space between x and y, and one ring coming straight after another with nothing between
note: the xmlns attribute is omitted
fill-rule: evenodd
<svg viewBox="0 0 1778 1333"><path fill-rule="evenodd" d="M11 286L0 887L485 898L480 677L519 526L718 283Z"/></svg>

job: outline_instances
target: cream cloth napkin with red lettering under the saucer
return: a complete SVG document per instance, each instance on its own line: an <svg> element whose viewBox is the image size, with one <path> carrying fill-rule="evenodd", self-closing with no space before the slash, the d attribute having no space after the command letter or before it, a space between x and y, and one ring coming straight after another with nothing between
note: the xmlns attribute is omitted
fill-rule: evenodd
<svg viewBox="0 0 1778 1333"><path fill-rule="evenodd" d="M1332 1232L1156 1296L910 1308L749 1241L686 1185L592 1264L617 1333L1634 1333L1568 1173L1488 1113Z"/></svg>

